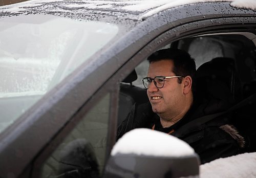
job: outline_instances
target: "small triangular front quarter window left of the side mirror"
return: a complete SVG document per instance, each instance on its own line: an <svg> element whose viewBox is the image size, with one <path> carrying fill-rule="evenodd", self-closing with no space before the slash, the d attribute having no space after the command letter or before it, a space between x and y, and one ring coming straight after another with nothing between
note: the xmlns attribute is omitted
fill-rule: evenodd
<svg viewBox="0 0 256 178"><path fill-rule="evenodd" d="M50 144L54 152L40 166L39 177L97 177L105 164L109 112L110 94L106 94L78 123L69 122L74 128L57 148Z"/></svg>

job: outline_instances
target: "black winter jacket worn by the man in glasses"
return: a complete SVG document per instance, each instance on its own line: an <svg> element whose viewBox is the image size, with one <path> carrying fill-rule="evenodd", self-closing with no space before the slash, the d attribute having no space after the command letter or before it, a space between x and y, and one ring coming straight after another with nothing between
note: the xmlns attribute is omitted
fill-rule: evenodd
<svg viewBox="0 0 256 178"><path fill-rule="evenodd" d="M241 152L245 145L244 138L236 128L228 124L228 116L220 116L203 124L195 124L189 128L186 123L205 115L204 106L193 104L187 114L169 128L162 128L158 115L153 113L150 103L134 105L126 119L119 125L117 140L127 131L134 128L152 128L168 133L187 142L199 154L201 164L217 158L229 157Z"/></svg>

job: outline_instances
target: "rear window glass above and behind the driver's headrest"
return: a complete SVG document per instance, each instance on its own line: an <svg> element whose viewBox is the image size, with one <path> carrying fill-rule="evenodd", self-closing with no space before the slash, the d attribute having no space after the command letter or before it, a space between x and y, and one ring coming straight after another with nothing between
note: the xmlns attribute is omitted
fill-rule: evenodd
<svg viewBox="0 0 256 178"><path fill-rule="evenodd" d="M243 35L241 35L243 34ZM250 35L248 35L250 34ZM217 57L234 60L243 84L255 81L255 44L247 37L251 33L207 35L179 40L179 49L187 51L195 58L199 68L204 62Z"/></svg>

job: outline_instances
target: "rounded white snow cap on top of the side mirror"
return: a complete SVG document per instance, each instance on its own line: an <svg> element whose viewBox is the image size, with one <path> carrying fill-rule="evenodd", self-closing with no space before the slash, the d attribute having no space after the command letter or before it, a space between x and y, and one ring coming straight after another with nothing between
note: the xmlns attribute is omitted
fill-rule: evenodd
<svg viewBox="0 0 256 178"><path fill-rule="evenodd" d="M137 154L159 157L184 157L195 151L186 142L166 133L147 128L133 129L114 145L111 155Z"/></svg>

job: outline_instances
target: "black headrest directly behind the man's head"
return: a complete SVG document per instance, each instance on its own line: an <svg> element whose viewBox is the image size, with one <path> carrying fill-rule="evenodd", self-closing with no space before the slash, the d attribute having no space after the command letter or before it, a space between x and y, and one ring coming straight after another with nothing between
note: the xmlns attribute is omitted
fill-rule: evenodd
<svg viewBox="0 0 256 178"><path fill-rule="evenodd" d="M241 82L232 58L218 57L205 62L196 72L196 81L199 98L207 98L218 105L218 111L242 98Z"/></svg>

